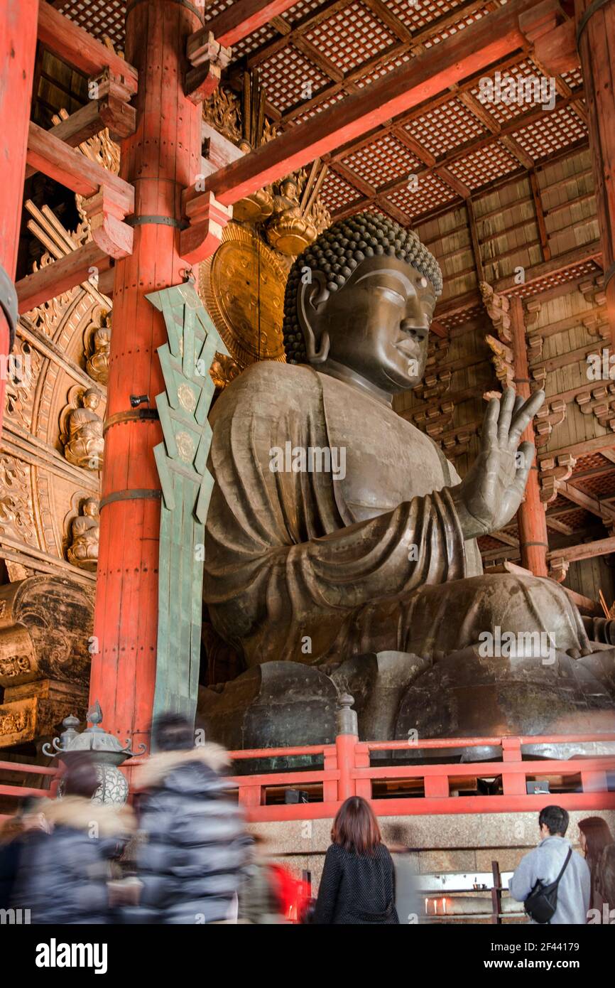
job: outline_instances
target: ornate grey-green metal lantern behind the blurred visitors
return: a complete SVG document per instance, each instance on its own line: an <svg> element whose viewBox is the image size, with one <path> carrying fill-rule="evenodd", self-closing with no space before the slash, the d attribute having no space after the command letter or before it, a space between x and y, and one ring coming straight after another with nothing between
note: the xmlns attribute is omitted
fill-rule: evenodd
<svg viewBox="0 0 615 988"><path fill-rule="evenodd" d="M118 769L127 758L133 758L136 754L142 755L147 750L144 744L139 745L140 750L133 752L129 742L122 748L121 742L104 730L100 723L103 719L101 704L97 700L87 712L87 720L92 725L86 727L79 733L76 728L79 724L77 717L64 717L62 731L59 738L53 738L51 744L44 744L42 752L48 758L61 756L62 761L70 762L71 755L79 752L90 752L99 779L99 787L92 796L93 802L123 805L128 797L128 782ZM45 750L46 749L46 750ZM62 782L58 785L58 795L62 795Z"/></svg>

